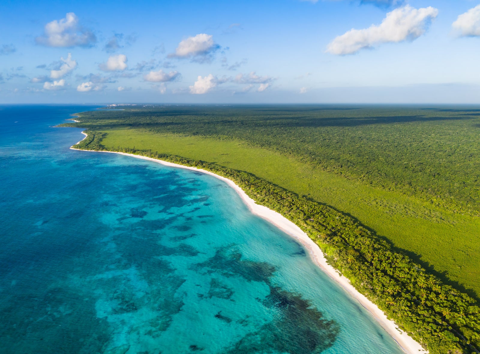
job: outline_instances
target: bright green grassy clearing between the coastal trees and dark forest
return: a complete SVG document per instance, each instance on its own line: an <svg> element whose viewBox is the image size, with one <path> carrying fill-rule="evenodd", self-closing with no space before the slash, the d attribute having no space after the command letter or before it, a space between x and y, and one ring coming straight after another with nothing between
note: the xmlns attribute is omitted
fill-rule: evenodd
<svg viewBox="0 0 480 354"><path fill-rule="evenodd" d="M102 129L109 149L137 148L248 171L357 218L446 282L480 294L480 217L454 213L422 198L324 171L295 156L235 139L158 134L142 128ZM280 168L279 168L280 166Z"/></svg>

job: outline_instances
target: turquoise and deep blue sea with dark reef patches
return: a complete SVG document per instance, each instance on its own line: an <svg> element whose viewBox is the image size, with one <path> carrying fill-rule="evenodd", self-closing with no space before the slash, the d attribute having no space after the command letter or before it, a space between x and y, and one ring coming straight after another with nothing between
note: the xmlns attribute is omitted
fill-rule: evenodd
<svg viewBox="0 0 480 354"><path fill-rule="evenodd" d="M70 150L90 106L0 106L0 353L402 353L212 176Z"/></svg>

